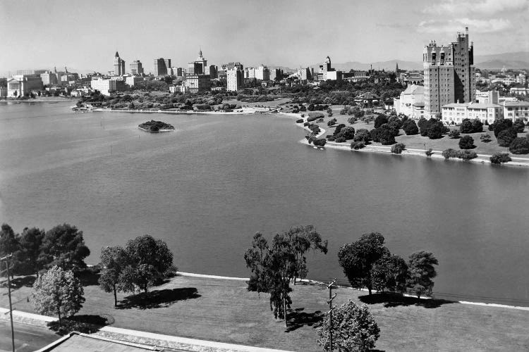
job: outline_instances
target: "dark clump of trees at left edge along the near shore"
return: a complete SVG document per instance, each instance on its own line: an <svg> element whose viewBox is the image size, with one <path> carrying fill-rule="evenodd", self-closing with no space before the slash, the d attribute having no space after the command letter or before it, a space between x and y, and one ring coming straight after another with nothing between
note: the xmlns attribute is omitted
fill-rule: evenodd
<svg viewBox="0 0 529 352"><path fill-rule="evenodd" d="M64 270L79 271L86 268L85 258L90 249L85 246L83 231L63 224L44 231L26 227L16 234L11 226L3 224L0 232L0 257L13 253L12 275L39 275L55 265Z"/></svg>

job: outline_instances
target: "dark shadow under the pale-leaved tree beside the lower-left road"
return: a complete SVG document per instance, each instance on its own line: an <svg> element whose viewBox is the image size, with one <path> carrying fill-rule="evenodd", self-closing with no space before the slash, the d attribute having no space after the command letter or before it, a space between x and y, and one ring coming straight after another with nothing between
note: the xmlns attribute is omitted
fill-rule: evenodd
<svg viewBox="0 0 529 352"><path fill-rule="evenodd" d="M102 327L111 324L114 324L114 318L111 315L82 314L74 315L70 318L63 318L61 325L59 325L59 320L56 320L49 322L47 326L59 335L66 335L73 331L92 334L99 331Z"/></svg>

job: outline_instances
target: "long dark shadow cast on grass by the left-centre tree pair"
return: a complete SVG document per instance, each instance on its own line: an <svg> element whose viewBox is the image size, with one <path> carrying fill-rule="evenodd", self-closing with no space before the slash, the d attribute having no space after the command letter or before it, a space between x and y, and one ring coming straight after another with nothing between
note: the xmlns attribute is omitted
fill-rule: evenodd
<svg viewBox="0 0 529 352"><path fill-rule="evenodd" d="M195 287L183 287L180 289L162 289L150 292L142 292L127 296L118 303L118 309L150 309L169 307L176 301L185 301L186 299L198 298L200 294Z"/></svg>

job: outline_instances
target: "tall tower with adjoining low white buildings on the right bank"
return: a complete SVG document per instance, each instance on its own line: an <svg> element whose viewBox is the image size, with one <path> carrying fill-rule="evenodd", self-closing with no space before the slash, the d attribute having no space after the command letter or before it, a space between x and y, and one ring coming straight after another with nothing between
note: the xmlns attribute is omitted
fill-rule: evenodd
<svg viewBox="0 0 529 352"><path fill-rule="evenodd" d="M525 72L485 75L475 68L473 52L466 28L464 34L457 34L456 42L442 46L430 42L425 46L422 80L406 77L397 67L396 74L402 82L411 84L394 99L396 112L415 119L440 118L446 125L459 124L465 118L478 118L488 124L501 118L529 120L529 102L518 101L514 96L500 96L496 90L482 93L476 89L476 82L485 82L484 79L490 84L516 82L520 85L511 87L511 95L525 95Z"/></svg>

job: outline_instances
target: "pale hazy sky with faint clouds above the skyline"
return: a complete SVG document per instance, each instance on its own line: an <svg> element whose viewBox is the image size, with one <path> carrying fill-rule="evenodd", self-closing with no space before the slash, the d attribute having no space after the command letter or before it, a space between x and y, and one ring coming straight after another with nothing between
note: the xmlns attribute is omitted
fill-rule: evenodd
<svg viewBox="0 0 529 352"><path fill-rule="evenodd" d="M0 0L0 75L25 68L146 72L157 57L297 68L421 61L422 47L469 27L475 54L529 51L529 0Z"/></svg>

